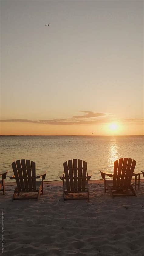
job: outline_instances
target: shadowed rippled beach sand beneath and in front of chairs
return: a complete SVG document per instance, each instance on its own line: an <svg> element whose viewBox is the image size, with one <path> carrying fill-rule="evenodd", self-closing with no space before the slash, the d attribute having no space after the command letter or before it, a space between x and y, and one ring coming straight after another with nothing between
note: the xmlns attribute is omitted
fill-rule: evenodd
<svg viewBox="0 0 144 256"><path fill-rule="evenodd" d="M5 256L144 255L144 180L135 196L114 199L103 181L90 181L90 201L63 201L62 182L44 182L39 201L0 194ZM1 253L1 251L0 251Z"/></svg>

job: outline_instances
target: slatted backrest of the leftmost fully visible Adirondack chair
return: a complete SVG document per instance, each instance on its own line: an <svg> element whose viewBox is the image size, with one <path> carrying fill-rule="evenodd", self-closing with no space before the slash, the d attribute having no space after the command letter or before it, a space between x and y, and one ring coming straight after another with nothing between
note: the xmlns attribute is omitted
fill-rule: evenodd
<svg viewBox="0 0 144 256"><path fill-rule="evenodd" d="M17 160L12 163L17 188L20 191L36 191L36 164L30 160Z"/></svg>

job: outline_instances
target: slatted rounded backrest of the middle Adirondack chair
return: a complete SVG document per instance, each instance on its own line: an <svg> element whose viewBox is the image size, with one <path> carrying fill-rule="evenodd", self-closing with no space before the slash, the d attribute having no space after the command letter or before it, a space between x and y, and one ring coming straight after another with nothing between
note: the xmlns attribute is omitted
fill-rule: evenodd
<svg viewBox="0 0 144 256"><path fill-rule="evenodd" d="M82 192L85 190L87 178L87 162L71 159L63 163L67 192Z"/></svg>

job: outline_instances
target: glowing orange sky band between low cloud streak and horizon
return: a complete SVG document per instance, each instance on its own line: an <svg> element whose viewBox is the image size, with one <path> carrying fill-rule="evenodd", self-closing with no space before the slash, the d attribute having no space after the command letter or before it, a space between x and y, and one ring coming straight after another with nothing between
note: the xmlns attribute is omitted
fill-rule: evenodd
<svg viewBox="0 0 144 256"><path fill-rule="evenodd" d="M87 121L88 122L88 121ZM91 121L89 121L91 123ZM142 135L142 121L107 121L87 125L51 125L28 122L2 122L2 135Z"/></svg>

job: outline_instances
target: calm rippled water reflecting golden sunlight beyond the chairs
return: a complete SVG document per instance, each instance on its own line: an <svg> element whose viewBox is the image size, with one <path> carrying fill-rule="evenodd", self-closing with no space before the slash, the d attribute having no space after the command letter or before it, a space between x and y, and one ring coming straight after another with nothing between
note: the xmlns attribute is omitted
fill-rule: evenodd
<svg viewBox="0 0 144 256"><path fill-rule="evenodd" d="M144 170L144 136L2 136L0 171L13 175L11 164L18 159L36 162L36 173L47 170L45 180L57 180L63 163L69 159L87 162L92 179L101 179L99 170L113 172L121 157L137 161L135 171ZM13 182L13 180L12 180Z"/></svg>

